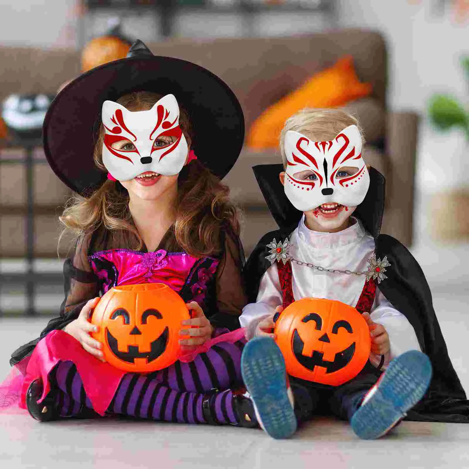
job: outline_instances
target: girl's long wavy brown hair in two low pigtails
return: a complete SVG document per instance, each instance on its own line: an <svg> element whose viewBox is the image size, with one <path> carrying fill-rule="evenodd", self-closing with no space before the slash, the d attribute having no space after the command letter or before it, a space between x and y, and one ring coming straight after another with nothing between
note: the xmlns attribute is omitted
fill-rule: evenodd
<svg viewBox="0 0 469 469"><path fill-rule="evenodd" d="M148 110L160 98L161 95L156 93L137 91L122 96L117 102L131 111ZM191 126L183 109L180 109L179 122L190 145ZM103 139L104 129L100 124L93 158L96 165L106 171L102 160ZM64 227L62 234L72 231L80 236L99 228L106 228L111 232L124 230L136 236L136 246L130 246L131 248L141 249L143 246L142 238L130 216L129 193L119 182L106 180L90 197L72 197L60 221ZM174 224L176 241L192 256L207 256L221 250L220 235L227 229L239 235L238 211L229 201L229 189L202 163L194 160L182 168L178 177Z"/></svg>

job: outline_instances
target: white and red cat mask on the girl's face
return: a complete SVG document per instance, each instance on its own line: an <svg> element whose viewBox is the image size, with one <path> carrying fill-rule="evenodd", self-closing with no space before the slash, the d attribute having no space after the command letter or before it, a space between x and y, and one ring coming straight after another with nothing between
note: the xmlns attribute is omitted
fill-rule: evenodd
<svg viewBox="0 0 469 469"><path fill-rule="evenodd" d="M179 106L174 95L164 96L149 111L129 111L105 101L101 118L105 129L103 164L118 181L128 181L145 171L165 176L181 171L188 145L179 126ZM162 143L158 140L162 136L171 136L174 142L157 145ZM133 146L131 150L112 147L126 139Z"/></svg>

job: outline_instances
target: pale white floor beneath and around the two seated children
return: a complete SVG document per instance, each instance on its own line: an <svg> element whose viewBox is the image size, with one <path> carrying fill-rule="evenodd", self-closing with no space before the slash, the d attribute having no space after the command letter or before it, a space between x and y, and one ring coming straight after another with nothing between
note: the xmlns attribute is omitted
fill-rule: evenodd
<svg viewBox="0 0 469 469"><path fill-rule="evenodd" d="M469 391L469 246L430 241L413 250L431 285L434 306L461 382ZM46 318L0 318L0 379L18 345ZM0 467L16 468L467 468L469 425L403 422L378 441L358 440L348 424L320 419L293 439L261 430L108 419L40 424L0 413Z"/></svg>

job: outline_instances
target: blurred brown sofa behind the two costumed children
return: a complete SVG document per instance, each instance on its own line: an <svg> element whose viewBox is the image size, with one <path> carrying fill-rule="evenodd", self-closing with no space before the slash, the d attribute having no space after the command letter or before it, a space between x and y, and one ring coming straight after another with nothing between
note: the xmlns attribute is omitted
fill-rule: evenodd
<svg viewBox="0 0 469 469"><path fill-rule="evenodd" d="M369 98L350 103L365 131L364 158L386 176L386 214L383 232L412 242L414 167L417 115L391 112L386 106L387 54L380 34L365 30L338 30L286 38L169 40L150 45L155 54L194 61L219 75L241 101L246 128L265 109L332 65L344 54L354 57L362 81L373 85ZM79 73L79 53L67 50L0 48L0 99L10 93L54 92ZM10 152L14 150L10 150ZM4 151L1 155L5 154ZM257 188L251 166L280 162L278 152L255 153L245 148L225 182L243 209L242 242L248 254L276 224ZM68 197L66 187L47 165L35 168L35 227L37 256L55 256L57 214ZM0 166L0 255L23 256L24 178L20 166ZM56 234L56 235L54 235ZM61 250L63 252L63 249Z"/></svg>

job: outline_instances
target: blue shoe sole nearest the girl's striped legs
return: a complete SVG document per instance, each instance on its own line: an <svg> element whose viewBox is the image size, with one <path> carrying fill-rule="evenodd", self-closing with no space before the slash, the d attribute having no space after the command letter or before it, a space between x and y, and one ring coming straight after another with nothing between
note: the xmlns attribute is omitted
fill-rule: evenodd
<svg viewBox="0 0 469 469"><path fill-rule="evenodd" d="M285 361L268 337L250 340L241 357L244 384L254 401L264 430L275 439L296 431L296 417L288 399Z"/></svg>

